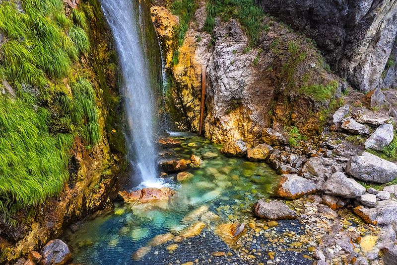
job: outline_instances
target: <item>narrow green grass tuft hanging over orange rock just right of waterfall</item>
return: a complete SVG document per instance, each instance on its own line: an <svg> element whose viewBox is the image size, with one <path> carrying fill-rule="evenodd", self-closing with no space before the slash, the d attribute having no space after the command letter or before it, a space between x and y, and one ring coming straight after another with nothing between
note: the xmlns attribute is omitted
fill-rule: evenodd
<svg viewBox="0 0 397 265"><path fill-rule="evenodd" d="M179 46L183 45L189 21L195 13L196 7L194 0L176 0L170 5L171 12L179 16L179 26L176 28Z"/></svg>

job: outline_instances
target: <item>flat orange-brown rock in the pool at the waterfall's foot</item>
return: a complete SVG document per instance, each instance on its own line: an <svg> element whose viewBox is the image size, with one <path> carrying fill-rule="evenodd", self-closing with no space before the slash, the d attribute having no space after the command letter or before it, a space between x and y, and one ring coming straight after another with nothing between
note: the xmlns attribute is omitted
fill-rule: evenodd
<svg viewBox="0 0 397 265"><path fill-rule="evenodd" d="M119 191L119 196L127 203L144 203L158 200L168 200L174 196L175 191L169 187L142 188L132 192Z"/></svg>

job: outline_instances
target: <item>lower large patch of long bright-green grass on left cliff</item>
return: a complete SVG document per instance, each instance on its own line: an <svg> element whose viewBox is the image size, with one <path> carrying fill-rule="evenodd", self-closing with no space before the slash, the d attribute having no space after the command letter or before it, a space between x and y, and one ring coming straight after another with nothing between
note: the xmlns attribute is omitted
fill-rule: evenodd
<svg viewBox="0 0 397 265"><path fill-rule="evenodd" d="M70 135L50 135L50 113L0 97L0 205L14 211L43 203L67 181Z"/></svg>

